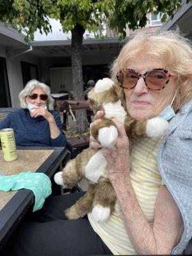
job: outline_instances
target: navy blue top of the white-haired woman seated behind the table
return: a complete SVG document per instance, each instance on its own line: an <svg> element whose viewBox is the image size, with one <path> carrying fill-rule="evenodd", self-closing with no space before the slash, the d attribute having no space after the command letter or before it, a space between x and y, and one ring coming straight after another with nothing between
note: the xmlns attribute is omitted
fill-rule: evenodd
<svg viewBox="0 0 192 256"><path fill-rule="evenodd" d="M28 109L17 109L9 113L6 118L0 122L0 129L13 128L15 134L15 143L17 146L24 147L65 147L66 138L61 127L60 116L56 111L49 111L58 129L60 135L52 139L49 123L43 116L31 117Z"/></svg>

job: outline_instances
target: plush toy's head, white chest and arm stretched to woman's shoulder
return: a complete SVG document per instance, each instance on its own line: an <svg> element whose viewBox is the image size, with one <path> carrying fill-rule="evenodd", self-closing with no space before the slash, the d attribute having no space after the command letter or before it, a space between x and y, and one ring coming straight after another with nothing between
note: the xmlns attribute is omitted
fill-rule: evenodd
<svg viewBox="0 0 192 256"><path fill-rule="evenodd" d="M88 103L94 114L99 110L104 111L102 122L92 129L95 139L97 139L99 130L105 131L104 127L106 127L106 131L100 131L100 133L104 133L101 137L105 138L109 134L109 127L115 125L111 124L111 117L124 124L129 138L140 138L145 135L156 138L162 136L168 127L168 122L159 116L150 120L133 120L126 111L124 89L109 78L97 81L95 87L88 93ZM116 137L116 133L114 137ZM109 143L109 146L112 144Z"/></svg>

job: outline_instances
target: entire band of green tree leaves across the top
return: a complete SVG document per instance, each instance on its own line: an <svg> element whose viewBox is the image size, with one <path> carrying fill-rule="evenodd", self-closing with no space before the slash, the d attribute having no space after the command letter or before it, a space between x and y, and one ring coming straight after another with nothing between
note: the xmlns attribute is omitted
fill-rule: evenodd
<svg viewBox="0 0 192 256"><path fill-rule="evenodd" d="M124 37L127 24L131 29L145 26L147 12L164 13L164 22L167 17L173 19L181 3L182 0L0 0L0 20L19 31L24 29L26 39L33 39L37 29L49 33L48 17L60 20L63 32L80 24L102 36L107 23Z"/></svg>

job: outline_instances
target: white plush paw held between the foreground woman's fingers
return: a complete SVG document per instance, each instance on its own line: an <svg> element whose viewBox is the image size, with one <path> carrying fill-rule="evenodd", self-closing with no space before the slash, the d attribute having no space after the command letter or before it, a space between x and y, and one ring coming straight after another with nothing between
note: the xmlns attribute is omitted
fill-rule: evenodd
<svg viewBox="0 0 192 256"><path fill-rule="evenodd" d="M102 147L111 148L118 138L118 131L114 125L99 129L98 140Z"/></svg>

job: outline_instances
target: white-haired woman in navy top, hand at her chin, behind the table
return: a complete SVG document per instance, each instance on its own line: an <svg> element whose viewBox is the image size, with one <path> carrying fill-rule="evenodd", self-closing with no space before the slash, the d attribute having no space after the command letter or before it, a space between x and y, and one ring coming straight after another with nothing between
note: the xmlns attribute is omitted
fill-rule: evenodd
<svg viewBox="0 0 192 256"><path fill-rule="evenodd" d="M66 138L60 116L53 111L49 86L29 81L19 93L20 106L0 122L0 129L13 128L17 146L65 147Z"/></svg>

